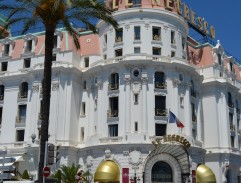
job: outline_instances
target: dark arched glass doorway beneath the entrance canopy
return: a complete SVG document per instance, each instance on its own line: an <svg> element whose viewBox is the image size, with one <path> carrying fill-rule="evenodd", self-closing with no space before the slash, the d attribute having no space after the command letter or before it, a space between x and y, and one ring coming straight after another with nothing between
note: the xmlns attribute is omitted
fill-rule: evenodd
<svg viewBox="0 0 241 183"><path fill-rule="evenodd" d="M172 168L163 161L156 162L151 170L152 182L173 182Z"/></svg>

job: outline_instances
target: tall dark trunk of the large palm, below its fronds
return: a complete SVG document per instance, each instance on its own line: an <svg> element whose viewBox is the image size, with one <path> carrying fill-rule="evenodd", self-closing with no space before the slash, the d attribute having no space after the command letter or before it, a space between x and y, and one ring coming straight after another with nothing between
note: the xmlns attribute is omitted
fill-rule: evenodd
<svg viewBox="0 0 241 183"><path fill-rule="evenodd" d="M45 26L45 58L44 58L44 78L42 82L43 99L41 106L42 123L40 129L40 159L38 169L38 180L43 182L43 168L45 159L45 143L48 141L49 129L49 110L51 95L51 75L52 75L52 57L53 57L53 40L55 27L53 25Z"/></svg>

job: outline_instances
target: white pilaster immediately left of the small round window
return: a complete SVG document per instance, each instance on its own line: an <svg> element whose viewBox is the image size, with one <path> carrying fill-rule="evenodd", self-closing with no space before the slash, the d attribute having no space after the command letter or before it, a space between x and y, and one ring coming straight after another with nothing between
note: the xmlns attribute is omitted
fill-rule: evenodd
<svg viewBox="0 0 241 183"><path fill-rule="evenodd" d="M131 132L131 111L130 111L130 74L125 74L125 133Z"/></svg>

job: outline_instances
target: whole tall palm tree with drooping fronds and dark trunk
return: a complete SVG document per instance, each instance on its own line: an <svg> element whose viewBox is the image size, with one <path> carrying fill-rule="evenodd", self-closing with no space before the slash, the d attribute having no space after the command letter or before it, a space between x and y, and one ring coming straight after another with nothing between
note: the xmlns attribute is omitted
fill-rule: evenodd
<svg viewBox="0 0 241 183"><path fill-rule="evenodd" d="M40 129L40 161L38 178L43 179L42 169L44 167L45 143L48 141L49 108L51 93L51 71L54 47L54 32L59 24L72 35L77 49L78 32L71 26L71 22L80 22L88 29L97 33L94 21L101 19L110 23L115 29L117 22L112 17L112 11L103 3L96 0L15 0L11 4L0 3L0 11L7 13L7 24L10 25L23 22L22 34L30 28L42 24L45 28L45 58L43 76L43 98L42 98L42 124Z"/></svg>

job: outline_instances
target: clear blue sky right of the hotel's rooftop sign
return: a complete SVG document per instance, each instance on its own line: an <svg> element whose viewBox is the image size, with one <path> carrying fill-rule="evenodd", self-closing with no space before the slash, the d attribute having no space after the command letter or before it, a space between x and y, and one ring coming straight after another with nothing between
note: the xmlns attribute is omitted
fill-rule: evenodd
<svg viewBox="0 0 241 183"><path fill-rule="evenodd" d="M216 40L224 50L241 61L241 1L182 0L200 17L213 25Z"/></svg>

